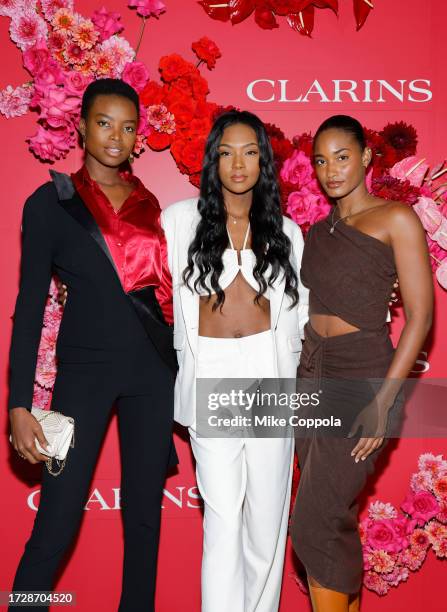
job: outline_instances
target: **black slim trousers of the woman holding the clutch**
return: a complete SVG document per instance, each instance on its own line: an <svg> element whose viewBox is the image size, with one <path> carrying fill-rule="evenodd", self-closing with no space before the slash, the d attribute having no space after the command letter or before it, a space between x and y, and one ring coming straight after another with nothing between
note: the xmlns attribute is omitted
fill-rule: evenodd
<svg viewBox="0 0 447 612"><path fill-rule="evenodd" d="M53 589L64 553L78 531L115 403L124 524L119 611L154 610L161 498L172 441L173 384L173 374L147 338L132 350L113 353L64 349L52 409L75 419L75 447L69 450L58 477L43 469L39 509L14 591ZM80 601L77 606L88 609Z"/></svg>

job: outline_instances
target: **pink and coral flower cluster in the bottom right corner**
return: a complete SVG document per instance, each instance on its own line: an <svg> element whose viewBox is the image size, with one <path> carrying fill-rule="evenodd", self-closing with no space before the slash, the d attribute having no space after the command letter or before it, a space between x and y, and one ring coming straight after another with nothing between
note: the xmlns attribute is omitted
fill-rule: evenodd
<svg viewBox="0 0 447 612"><path fill-rule="evenodd" d="M372 502L360 525L363 584L378 595L408 580L421 568L430 549L447 558L447 461L424 453L410 490L400 506Z"/></svg>

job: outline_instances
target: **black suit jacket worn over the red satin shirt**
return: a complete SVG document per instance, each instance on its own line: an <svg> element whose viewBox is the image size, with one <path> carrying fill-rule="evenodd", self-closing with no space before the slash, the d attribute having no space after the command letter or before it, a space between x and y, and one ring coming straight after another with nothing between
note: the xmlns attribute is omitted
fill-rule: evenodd
<svg viewBox="0 0 447 612"><path fill-rule="evenodd" d="M9 408L31 409L43 312L54 273L68 287L57 356L82 359L90 349L91 359L91 349L128 349L148 334L167 367L176 368L172 329L162 321L153 288L124 292L106 242L70 178L52 175L54 180L39 187L23 211Z"/></svg>

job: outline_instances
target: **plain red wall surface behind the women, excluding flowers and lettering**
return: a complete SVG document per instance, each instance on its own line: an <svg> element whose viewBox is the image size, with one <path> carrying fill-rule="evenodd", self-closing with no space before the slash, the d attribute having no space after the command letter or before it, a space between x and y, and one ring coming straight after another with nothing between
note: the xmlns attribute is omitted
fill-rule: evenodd
<svg viewBox="0 0 447 612"><path fill-rule="evenodd" d="M77 0L76 9L89 16L95 8L106 4L109 10L122 13L126 26L124 35L135 45L140 20L127 9L125 0ZM435 0L376 1L365 27L355 32L352 3L341 0L337 20L329 11L318 11L312 40L293 32L281 20L277 30L263 31L253 19L232 27L210 20L194 0L166 0L168 10L159 21L151 19L139 57L150 68L153 77L161 56L178 52L193 59L191 42L207 35L218 44L223 57L213 72L203 69L208 78L210 100L234 104L258 113L274 122L288 136L302 131L314 131L328 115L343 112L353 114L371 128L381 128L388 121L404 120L413 124L419 134L420 156L435 162L447 152L447 85L444 75L445 20L447 8ZM21 67L19 50L9 41L9 20L0 18L2 74L0 87L18 85L28 78ZM384 103L321 103L310 96L303 103L256 103L246 94L247 85L256 79L289 79L290 97L305 93L318 79L332 97L332 79L429 79L433 99L428 103L405 101L389 97ZM260 91L260 90L259 90ZM0 262L2 267L2 300L0 303L0 404L6 404L7 351L10 338L10 317L17 290L19 262L19 229L25 198L47 180L48 165L39 163L28 152L25 137L35 131L35 115L5 120L0 118L3 155L1 163L3 202L0 214ZM56 164L58 170L74 171L81 163L80 151ZM135 172L154 191L161 205L195 194L195 189L177 171L170 154L146 152L135 162ZM446 372L445 334L447 331L447 294L436 290L436 323L425 350L430 369L425 376L443 377ZM93 307L93 305L92 305ZM401 313L396 311L393 334L402 326ZM434 338L434 340L433 340ZM13 573L23 545L31 530L35 512L28 497L39 489L39 470L25 465L11 453L7 442L7 417L3 418L0 438L1 468L1 541L0 590L11 586ZM369 499L378 498L395 505L403 500L409 476L416 469L421 452L447 454L445 440L401 440L383 457L380 476L368 489ZM171 612L199 610L201 556L201 512L198 508L191 453L185 433L179 429L177 448L181 465L179 472L166 483L163 526L159 558L157 610ZM116 423L112 421L98 463L92 498L76 550L68 561L58 589L77 593L82 612L116 609L121 578L122 528L117 509L119 488L119 457ZM365 498L365 503L368 498ZM307 599L300 593L290 573L292 553L287 552L281 611L308 610ZM365 591L363 610L396 612L400 610L446 609L442 579L446 565L429 554L421 571L411 574L407 583L393 589L384 598Z"/></svg>

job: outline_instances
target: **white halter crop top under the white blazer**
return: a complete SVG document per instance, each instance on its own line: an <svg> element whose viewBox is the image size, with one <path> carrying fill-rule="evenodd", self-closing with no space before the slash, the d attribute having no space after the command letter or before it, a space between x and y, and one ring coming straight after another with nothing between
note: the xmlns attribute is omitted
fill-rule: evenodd
<svg viewBox="0 0 447 612"><path fill-rule="evenodd" d="M225 249L222 255L223 270L219 278L219 285L222 287L223 290L225 290L227 287L231 285L231 283L234 281L234 279L240 272L242 276L244 277L244 280L250 285L252 289L254 289L254 291L256 291L256 293L258 293L261 288L259 287L258 281L253 276L253 269L256 265L256 255L254 254L252 249L245 248L247 246L248 236L250 235L250 223L248 224L247 231L245 232L244 244L242 245L242 249L239 251L241 263L239 263L238 252L234 248L234 244L231 239L231 235L230 235L230 232L228 231L228 228L227 228L227 234L228 234L228 240L230 241L231 248ZM269 269L270 269L270 266L266 270L265 276L269 276L268 274ZM211 293L215 293L215 291L211 288L209 284L209 278L207 281L207 285L210 288ZM270 291L271 291L271 288L267 285L267 290L265 293L263 293L263 296L267 300L270 299ZM208 295L207 292L203 289L201 290L199 289L199 294Z"/></svg>

